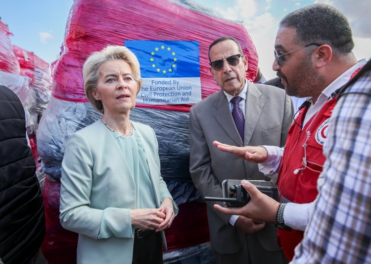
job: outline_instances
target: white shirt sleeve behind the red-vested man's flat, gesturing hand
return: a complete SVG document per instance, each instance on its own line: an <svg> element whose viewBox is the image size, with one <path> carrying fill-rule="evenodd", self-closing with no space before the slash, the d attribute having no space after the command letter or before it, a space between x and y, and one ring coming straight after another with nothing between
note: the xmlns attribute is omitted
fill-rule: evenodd
<svg viewBox="0 0 371 264"><path fill-rule="evenodd" d="M264 162L259 163L259 171L273 180L278 178L279 163L283 155L284 148L277 146L260 146L268 151L268 158Z"/></svg>

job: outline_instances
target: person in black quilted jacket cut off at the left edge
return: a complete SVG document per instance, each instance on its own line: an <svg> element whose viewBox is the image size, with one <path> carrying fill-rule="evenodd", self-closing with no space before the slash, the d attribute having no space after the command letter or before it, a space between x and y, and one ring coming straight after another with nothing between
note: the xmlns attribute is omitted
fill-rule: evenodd
<svg viewBox="0 0 371 264"><path fill-rule="evenodd" d="M45 236L43 197L27 145L24 108L0 85L0 259L33 263Z"/></svg>

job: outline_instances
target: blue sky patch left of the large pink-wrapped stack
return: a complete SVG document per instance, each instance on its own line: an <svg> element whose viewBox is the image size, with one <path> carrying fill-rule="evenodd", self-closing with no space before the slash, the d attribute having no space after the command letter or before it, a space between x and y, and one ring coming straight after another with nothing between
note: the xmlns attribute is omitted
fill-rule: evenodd
<svg viewBox="0 0 371 264"><path fill-rule="evenodd" d="M1 0L0 17L12 44L52 62L63 42L73 0Z"/></svg>

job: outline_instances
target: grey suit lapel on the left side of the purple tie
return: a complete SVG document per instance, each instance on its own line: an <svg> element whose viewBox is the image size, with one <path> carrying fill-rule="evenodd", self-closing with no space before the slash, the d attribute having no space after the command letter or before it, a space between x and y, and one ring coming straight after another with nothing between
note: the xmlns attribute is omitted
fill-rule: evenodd
<svg viewBox="0 0 371 264"><path fill-rule="evenodd" d="M231 108L223 91L218 92L218 97L214 104L214 117L221 128L230 136L237 146L242 146L241 137L234 125Z"/></svg>

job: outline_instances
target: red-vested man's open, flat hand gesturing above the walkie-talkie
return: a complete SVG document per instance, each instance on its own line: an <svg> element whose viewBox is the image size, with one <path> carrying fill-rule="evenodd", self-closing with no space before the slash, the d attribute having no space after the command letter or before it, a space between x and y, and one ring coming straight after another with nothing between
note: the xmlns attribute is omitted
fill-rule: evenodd
<svg viewBox="0 0 371 264"><path fill-rule="evenodd" d="M227 144L220 143L218 141L213 142L214 146L218 150L229 152L247 161L260 163L268 158L268 151L263 147L236 147Z"/></svg>

